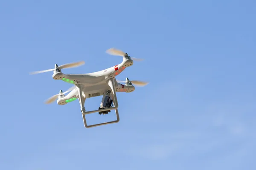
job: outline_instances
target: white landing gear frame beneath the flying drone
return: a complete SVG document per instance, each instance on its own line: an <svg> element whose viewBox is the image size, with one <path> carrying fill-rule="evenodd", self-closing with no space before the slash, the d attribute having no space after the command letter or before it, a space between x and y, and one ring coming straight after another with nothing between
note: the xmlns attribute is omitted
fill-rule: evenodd
<svg viewBox="0 0 256 170"><path fill-rule="evenodd" d="M117 98L116 98L116 91L115 91L115 84L114 84L114 80L113 79L110 79L109 81L108 81L108 85L110 86L110 88L111 88L111 90L112 90L112 93L111 92L106 92L106 93L108 93L108 95L109 96L111 96L111 98L113 99L111 99L112 100L112 102L113 102L113 105L114 105L114 107L110 107L110 108L101 108L101 109L98 109L98 110L95 110L95 111L85 111L85 108L84 108L84 101L82 100L82 97L80 97L81 95L80 94L82 94L82 92L81 92L81 90L80 90L80 92L79 92L79 102L80 102L80 105L81 105L81 108L83 108L83 109L81 109L81 113L82 113L82 116L83 116L83 121L84 121L84 127L86 127L86 128L90 128L90 127L96 127L96 126L101 126L101 125L108 125L108 124L112 124L112 123L117 123L117 122L119 122L119 113L118 113L118 110L117 110L117 108L118 108L118 102L117 102ZM104 99L104 98L103 98ZM103 100L102 99L102 100ZM110 100L110 101L111 101ZM108 105L109 105L110 103L108 103ZM111 105L112 105L112 103L111 103ZM100 112L99 112L99 110L101 110ZM99 112L99 114L100 113L108 113L108 112L111 112L111 110L115 110L115 112L116 112L116 120L114 120L114 121L111 121L111 122L104 122L104 123L99 123L99 124L94 124L94 125L87 125L87 122L86 122L86 118L85 118L85 115L86 114L91 114L91 113L96 113L96 112Z"/></svg>

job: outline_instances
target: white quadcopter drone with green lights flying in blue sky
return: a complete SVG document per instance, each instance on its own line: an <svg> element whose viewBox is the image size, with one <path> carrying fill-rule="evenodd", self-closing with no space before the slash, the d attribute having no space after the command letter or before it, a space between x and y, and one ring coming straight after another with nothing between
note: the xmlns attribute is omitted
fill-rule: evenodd
<svg viewBox="0 0 256 170"><path fill-rule="evenodd" d="M116 48L110 48L106 51L106 53L123 57L122 62L111 68L87 74L64 74L61 72L61 70L64 68L74 68L84 65L84 61L68 63L60 66L55 64L55 68L44 71L31 72L30 74L39 74L53 71L53 79L62 80L64 82L73 84L73 86L67 91L63 92L62 90L60 90L59 94L56 94L48 98L45 101L45 104L50 104L57 100L58 105L66 105L67 103L73 102L76 99L78 99L81 107L84 127L86 128L119 122L119 113L117 109L118 102L116 98L116 93L131 93L135 90L134 85L145 86L148 84L148 82L129 80L127 77L125 81L120 81L116 79L116 76L122 73L122 71L124 71L126 68L133 65L134 61L142 61L143 59L130 57L128 56L127 53L124 53L123 51ZM122 84L122 82L125 84ZM85 100L96 96L102 96L102 101L100 103L99 108L94 111L86 111L84 107ZM110 113L111 110L115 110L116 120L93 125L87 125L85 115L96 112L98 112L99 115L105 115Z"/></svg>

